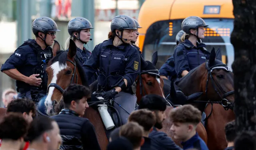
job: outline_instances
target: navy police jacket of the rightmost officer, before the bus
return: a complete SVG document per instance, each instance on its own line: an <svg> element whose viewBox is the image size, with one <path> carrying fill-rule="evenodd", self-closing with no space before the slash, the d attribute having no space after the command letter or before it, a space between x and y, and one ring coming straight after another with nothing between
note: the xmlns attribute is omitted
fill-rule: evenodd
<svg viewBox="0 0 256 150"><path fill-rule="evenodd" d="M178 77L181 77L182 71L187 70L189 72L210 58L210 52L205 47L203 43L194 46L188 39L176 46L174 64Z"/></svg>

